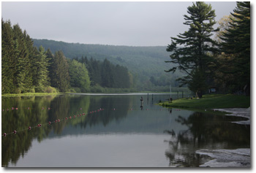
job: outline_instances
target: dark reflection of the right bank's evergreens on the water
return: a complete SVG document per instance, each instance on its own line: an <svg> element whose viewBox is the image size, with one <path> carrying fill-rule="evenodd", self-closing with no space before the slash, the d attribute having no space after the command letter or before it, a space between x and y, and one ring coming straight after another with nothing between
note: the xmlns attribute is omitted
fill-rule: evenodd
<svg viewBox="0 0 256 173"><path fill-rule="evenodd" d="M169 160L169 166L198 167L202 165L208 156L196 154L196 150L207 148L236 149L250 147L250 128L248 125L231 123L241 118L211 115L202 112L194 112L189 118L178 116L176 122L187 126L186 131L165 130L170 134L169 148L165 156Z"/></svg>

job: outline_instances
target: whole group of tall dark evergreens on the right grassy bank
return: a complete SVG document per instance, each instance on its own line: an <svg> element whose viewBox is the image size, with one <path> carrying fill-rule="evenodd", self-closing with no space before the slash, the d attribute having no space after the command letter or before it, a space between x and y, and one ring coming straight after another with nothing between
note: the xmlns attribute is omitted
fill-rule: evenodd
<svg viewBox="0 0 256 173"><path fill-rule="evenodd" d="M166 72L184 72L177 80L181 85L202 97L210 88L225 93L244 91L249 96L250 88L250 2L237 2L236 9L220 28L215 10L203 1L193 3L184 15L184 25L189 30L171 37L167 46L170 61L176 64ZM217 39L211 36L217 33Z"/></svg>

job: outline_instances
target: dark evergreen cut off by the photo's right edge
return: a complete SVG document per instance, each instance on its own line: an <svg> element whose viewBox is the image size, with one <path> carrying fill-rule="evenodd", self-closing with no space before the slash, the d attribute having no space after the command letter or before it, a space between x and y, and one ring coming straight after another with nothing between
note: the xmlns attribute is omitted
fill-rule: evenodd
<svg viewBox="0 0 256 173"><path fill-rule="evenodd" d="M239 1L237 7L231 13L234 18L230 18L226 32L222 36L222 52L230 56L230 68L227 72L236 76L233 85L242 90L247 88L246 95L249 95L250 88L250 2Z"/></svg>

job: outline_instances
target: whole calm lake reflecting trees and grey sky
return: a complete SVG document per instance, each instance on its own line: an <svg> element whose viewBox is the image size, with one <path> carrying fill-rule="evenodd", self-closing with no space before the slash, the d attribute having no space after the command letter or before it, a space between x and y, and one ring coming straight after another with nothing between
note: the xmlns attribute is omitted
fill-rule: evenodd
<svg viewBox="0 0 256 173"><path fill-rule="evenodd" d="M1 166L250 167L245 118L157 105L169 97L2 97Z"/></svg>

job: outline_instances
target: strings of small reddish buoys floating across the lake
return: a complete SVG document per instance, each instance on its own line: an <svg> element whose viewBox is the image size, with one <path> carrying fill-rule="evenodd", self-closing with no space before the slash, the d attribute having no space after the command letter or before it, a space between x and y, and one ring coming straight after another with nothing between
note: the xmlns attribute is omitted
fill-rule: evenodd
<svg viewBox="0 0 256 173"><path fill-rule="evenodd" d="M18 109L18 108L15 108L15 109ZM50 108L48 108L48 109L50 109ZM12 109L12 110L14 110L14 109ZM82 110L82 108L80 108L80 110ZM12 131L10 133L4 133L4 134L2 134L2 137L7 137L7 135L10 135L10 134L17 134L20 131L26 131L26 130L31 131L32 128L40 128L41 126L45 126L45 125L50 126L52 123L59 123L62 120L71 120L71 119L79 118L79 117L84 116L84 115L91 115L93 113L101 112L103 110L105 110L105 109L99 108L99 109L96 109L96 110L93 110L93 111L90 111L90 112L87 112L87 113L80 113L80 114L78 113L78 115L73 115L73 116L69 116L67 118L57 119L57 120L54 120L54 121L49 121L48 123L44 123L44 124L39 123L36 126L29 126L28 128L25 128L25 129L22 129L22 130L19 130L19 131L14 130L14 131ZM116 108L113 108L111 110L116 111ZM163 110L168 110L168 109L133 109L133 108L131 108L129 110L131 110L131 111L133 111L133 110L146 110L146 111L149 111L149 110L153 110L153 111L157 110L157 111L159 111L160 110L160 111L163 111ZM174 109L174 110L180 111L181 109ZM4 111L4 109L3 109L3 111ZM7 109L7 111L8 111L8 109Z"/></svg>

